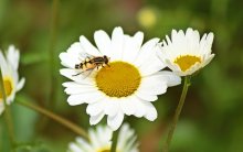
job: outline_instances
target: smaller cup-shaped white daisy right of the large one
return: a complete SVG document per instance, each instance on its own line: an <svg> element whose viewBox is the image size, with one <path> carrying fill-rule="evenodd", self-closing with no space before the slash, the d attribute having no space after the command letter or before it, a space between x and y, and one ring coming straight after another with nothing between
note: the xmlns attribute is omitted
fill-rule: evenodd
<svg viewBox="0 0 243 152"><path fill-rule="evenodd" d="M214 57L211 54L213 33L204 34L201 40L199 32L189 28L172 30L171 40L166 36L161 51L158 51L161 61L179 76L192 75L204 67Z"/></svg>

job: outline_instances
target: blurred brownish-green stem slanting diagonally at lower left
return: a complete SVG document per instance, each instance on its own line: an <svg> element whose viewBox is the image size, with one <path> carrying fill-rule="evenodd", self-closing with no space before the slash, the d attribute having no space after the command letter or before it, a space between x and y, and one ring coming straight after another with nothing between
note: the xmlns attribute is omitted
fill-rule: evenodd
<svg viewBox="0 0 243 152"><path fill-rule="evenodd" d="M21 100L17 100L17 102L24 106L24 107L28 107L28 108L30 108L34 111L38 111L38 112L40 112L40 113L42 113L42 115L44 115L44 116L46 116L46 117L49 117L53 120L55 120L56 122L59 122L59 123L63 124L64 127L71 129L73 132L88 139L87 133L82 128L80 128L78 126L74 124L73 122L71 122L71 121L53 113L52 111L49 111L46 109L43 109L42 107L39 107L39 106L30 104L30 102L25 102L25 101L21 101Z"/></svg>

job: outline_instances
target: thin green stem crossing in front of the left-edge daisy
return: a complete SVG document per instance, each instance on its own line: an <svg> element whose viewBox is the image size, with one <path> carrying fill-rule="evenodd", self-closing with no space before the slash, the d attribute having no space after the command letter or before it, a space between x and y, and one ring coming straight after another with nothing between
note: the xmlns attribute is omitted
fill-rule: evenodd
<svg viewBox="0 0 243 152"><path fill-rule="evenodd" d="M4 84L3 84L3 76L2 76L1 68L0 68L0 93L2 94L2 100L4 104L4 119L6 119L6 123L8 127L10 142L12 145L11 148L13 148L15 144L15 139L14 139L15 135L14 135L14 129L13 129L13 122L12 122L10 107L7 104L6 88L4 88Z"/></svg>

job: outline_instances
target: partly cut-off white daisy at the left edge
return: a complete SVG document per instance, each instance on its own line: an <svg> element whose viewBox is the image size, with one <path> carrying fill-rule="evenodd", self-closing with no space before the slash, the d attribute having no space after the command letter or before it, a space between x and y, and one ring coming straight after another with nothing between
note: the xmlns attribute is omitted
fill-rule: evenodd
<svg viewBox="0 0 243 152"><path fill-rule="evenodd" d="M3 86L7 95L7 104L10 105L15 97L15 93L19 91L23 85L25 79L21 78L19 80L19 58L20 53L13 46L10 45L7 52L7 57L4 57L3 53L0 51L0 68L3 77ZM0 91L0 115L4 110L3 97Z"/></svg>

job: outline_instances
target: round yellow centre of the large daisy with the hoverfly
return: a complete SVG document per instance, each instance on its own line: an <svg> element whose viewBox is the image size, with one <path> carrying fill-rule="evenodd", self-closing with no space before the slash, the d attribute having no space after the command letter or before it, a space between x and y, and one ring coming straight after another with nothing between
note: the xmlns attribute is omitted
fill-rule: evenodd
<svg viewBox="0 0 243 152"><path fill-rule="evenodd" d="M140 85L141 76L138 69L129 63L113 62L98 70L96 85L109 97L127 97L133 95Z"/></svg>

